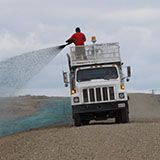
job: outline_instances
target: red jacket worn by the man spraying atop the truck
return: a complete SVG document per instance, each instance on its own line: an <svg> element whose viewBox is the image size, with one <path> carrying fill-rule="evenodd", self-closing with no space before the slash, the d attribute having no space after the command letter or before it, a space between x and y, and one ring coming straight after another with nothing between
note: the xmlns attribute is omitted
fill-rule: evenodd
<svg viewBox="0 0 160 160"><path fill-rule="evenodd" d="M76 32L68 40L73 41L73 43L76 46L81 46L81 45L84 45L84 42L86 41L86 37L85 37L84 33Z"/></svg>

